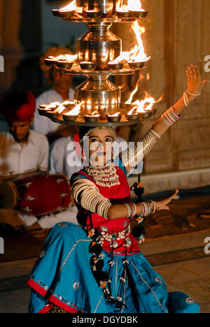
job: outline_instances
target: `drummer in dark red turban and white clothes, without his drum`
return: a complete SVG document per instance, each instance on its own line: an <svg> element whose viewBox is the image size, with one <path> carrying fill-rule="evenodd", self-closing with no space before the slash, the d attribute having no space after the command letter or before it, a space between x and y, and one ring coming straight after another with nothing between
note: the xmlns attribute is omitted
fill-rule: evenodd
<svg viewBox="0 0 210 327"><path fill-rule="evenodd" d="M1 101L0 108L9 126L9 131L0 132L1 182L6 175L47 170L48 140L41 133L30 130L36 108L34 94L25 91L9 94ZM76 221L75 209L69 210L37 219L34 216L20 215L17 210L1 208L0 223L15 228L25 226L27 230L52 228L60 221Z"/></svg>

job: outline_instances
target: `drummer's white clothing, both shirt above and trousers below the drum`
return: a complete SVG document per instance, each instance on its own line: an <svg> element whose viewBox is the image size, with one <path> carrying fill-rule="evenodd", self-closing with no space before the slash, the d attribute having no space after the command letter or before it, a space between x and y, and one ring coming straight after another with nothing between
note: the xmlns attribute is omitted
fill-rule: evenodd
<svg viewBox="0 0 210 327"><path fill-rule="evenodd" d="M0 175L13 173L22 174L29 170L48 169L48 139L41 133L29 131L28 142L21 146L10 132L0 133ZM76 221L76 207L70 207L56 215L47 215L37 219L34 216L22 215L26 227L38 221L41 228L52 228L62 221Z"/></svg>

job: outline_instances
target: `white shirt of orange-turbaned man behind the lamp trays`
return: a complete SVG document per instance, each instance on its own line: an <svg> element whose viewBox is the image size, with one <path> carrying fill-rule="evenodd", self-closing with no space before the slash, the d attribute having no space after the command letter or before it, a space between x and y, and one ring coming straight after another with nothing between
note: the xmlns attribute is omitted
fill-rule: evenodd
<svg viewBox="0 0 210 327"><path fill-rule="evenodd" d="M69 89L69 101L74 100L74 90ZM44 135L48 135L48 133L52 133L60 129L60 124L52 122L48 117L44 117L39 115L38 108L43 104L48 104L52 102L60 103L64 102L62 96L57 93L54 89L50 89L49 91L43 92L38 98L36 99L36 111L34 115L34 131L38 133L43 133Z"/></svg>

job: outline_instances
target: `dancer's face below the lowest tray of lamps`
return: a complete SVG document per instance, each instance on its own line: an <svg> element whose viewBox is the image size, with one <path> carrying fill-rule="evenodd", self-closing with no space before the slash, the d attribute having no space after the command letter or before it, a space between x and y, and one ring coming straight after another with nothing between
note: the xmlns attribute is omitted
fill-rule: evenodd
<svg viewBox="0 0 210 327"><path fill-rule="evenodd" d="M89 134L89 155L91 166L105 166L111 161L113 133L110 129L94 129Z"/></svg>

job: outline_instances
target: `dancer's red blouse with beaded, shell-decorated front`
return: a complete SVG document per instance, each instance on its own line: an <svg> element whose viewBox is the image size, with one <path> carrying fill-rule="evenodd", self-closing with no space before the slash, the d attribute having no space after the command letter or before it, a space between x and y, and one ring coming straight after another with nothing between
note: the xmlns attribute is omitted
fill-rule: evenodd
<svg viewBox="0 0 210 327"><path fill-rule="evenodd" d="M120 184L110 188L96 184L93 178L87 175L84 170L80 170L76 175L87 177L96 185L99 189L99 193L105 198L108 198L112 204L131 203L130 186L127 182L127 177L118 166L116 166L116 170ZM78 203L76 203L76 205L78 207L77 219L79 224L90 226L90 217L87 215L87 210L78 205ZM97 228L101 233L102 247L106 252L110 253L113 251L113 254L125 254L127 251L128 255L140 252L137 240L135 240L134 236L129 231L130 221L127 217L111 220L101 217L97 213L92 213L92 224L93 227Z"/></svg>

